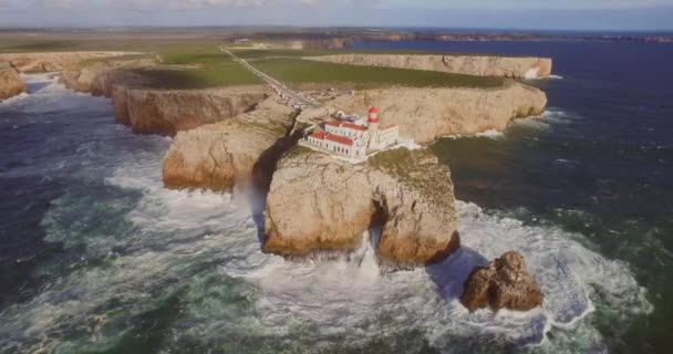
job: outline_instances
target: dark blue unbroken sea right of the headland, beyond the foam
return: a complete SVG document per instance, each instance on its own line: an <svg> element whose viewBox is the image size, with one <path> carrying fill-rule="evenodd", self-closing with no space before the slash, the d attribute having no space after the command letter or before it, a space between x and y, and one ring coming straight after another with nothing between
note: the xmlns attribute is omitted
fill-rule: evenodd
<svg viewBox="0 0 673 354"><path fill-rule="evenodd" d="M613 42L363 42L363 49L501 53L553 59L542 88L556 121L497 139L444 139L456 195L529 223L581 232L627 262L654 304L631 323L604 321L612 348L665 352L673 325L672 44ZM601 322L601 319L596 319Z"/></svg>

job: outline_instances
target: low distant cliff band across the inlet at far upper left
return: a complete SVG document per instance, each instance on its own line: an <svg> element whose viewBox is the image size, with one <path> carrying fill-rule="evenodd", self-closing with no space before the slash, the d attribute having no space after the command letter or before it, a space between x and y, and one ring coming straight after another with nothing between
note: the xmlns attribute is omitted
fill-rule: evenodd
<svg viewBox="0 0 673 354"><path fill-rule="evenodd" d="M9 61L20 72L53 72L90 59L121 56L125 52L58 52L58 53L8 53L0 61Z"/></svg>

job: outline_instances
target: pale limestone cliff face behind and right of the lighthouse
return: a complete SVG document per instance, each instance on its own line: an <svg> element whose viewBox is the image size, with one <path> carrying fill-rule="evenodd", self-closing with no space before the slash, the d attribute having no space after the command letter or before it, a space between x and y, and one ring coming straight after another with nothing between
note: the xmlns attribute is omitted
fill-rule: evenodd
<svg viewBox="0 0 673 354"><path fill-rule="evenodd" d="M393 87L356 92L330 103L345 112L366 112L375 105L384 124L418 143L444 135L504 131L515 118L542 114L547 95L535 87L508 81L496 88Z"/></svg>

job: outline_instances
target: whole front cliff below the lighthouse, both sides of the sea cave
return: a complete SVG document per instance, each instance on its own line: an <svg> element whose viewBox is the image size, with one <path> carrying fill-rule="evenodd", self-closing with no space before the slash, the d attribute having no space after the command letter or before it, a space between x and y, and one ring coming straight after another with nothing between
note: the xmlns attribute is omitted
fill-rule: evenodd
<svg viewBox="0 0 673 354"><path fill-rule="evenodd" d="M352 165L296 147L273 175L265 219L265 251L282 256L353 251L379 222L384 263L431 263L459 247L449 171L429 150Z"/></svg>

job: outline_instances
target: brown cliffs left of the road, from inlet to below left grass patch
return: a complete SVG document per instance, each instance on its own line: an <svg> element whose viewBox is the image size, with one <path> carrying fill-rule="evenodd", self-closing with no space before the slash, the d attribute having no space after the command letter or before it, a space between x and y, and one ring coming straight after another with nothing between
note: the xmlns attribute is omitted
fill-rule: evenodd
<svg viewBox="0 0 673 354"><path fill-rule="evenodd" d="M152 59L91 61L61 73L69 88L112 98L116 122L136 133L175 135L249 112L266 100L261 85L208 90L157 90L143 71L159 67ZM182 70L170 67L170 70Z"/></svg>

